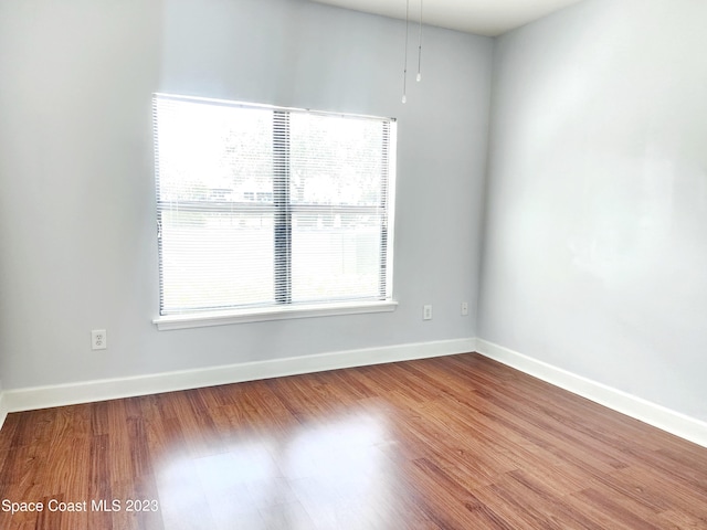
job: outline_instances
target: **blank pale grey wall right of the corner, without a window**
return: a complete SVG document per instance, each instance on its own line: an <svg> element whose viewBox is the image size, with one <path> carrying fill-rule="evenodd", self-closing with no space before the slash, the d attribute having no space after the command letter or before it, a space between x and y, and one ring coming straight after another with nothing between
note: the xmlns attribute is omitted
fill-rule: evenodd
<svg viewBox="0 0 707 530"><path fill-rule="evenodd" d="M707 420L707 2L496 43L479 336Z"/></svg>

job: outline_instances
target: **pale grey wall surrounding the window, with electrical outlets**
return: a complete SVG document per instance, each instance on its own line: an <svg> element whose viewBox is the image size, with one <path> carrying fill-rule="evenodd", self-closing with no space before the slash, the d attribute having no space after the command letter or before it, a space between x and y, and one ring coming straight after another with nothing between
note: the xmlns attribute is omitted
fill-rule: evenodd
<svg viewBox="0 0 707 530"><path fill-rule="evenodd" d="M4 390L474 337L493 41L425 29L403 106L403 31L304 0L0 2ZM398 310L157 331L158 91L398 117Z"/></svg>

